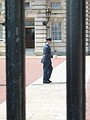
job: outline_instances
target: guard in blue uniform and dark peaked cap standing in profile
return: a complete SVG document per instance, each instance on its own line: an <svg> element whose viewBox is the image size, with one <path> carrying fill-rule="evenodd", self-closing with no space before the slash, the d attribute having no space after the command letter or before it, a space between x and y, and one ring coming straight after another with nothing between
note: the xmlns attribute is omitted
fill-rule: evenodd
<svg viewBox="0 0 90 120"><path fill-rule="evenodd" d="M43 58L41 62L43 63L43 83L51 83L50 77L52 74L52 61L51 58L53 58L53 55L51 55L51 48L50 44L52 42L51 38L46 39L45 46L43 48Z"/></svg>

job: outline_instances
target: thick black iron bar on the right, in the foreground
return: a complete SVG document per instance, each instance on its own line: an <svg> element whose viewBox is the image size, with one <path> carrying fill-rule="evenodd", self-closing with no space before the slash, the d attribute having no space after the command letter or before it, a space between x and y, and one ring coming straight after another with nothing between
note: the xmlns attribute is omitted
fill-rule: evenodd
<svg viewBox="0 0 90 120"><path fill-rule="evenodd" d="M85 0L67 0L67 120L85 120Z"/></svg>

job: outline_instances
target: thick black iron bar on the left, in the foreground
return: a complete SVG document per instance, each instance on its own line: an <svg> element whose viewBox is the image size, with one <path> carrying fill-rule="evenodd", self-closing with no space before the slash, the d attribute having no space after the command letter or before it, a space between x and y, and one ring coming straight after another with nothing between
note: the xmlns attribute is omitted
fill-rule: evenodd
<svg viewBox="0 0 90 120"><path fill-rule="evenodd" d="M25 120L24 0L5 0L7 120Z"/></svg>

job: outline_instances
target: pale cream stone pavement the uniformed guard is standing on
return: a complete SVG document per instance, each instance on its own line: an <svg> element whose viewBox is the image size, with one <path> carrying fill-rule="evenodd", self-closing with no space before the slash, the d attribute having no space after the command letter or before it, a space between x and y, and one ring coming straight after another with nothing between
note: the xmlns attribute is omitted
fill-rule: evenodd
<svg viewBox="0 0 90 120"><path fill-rule="evenodd" d="M86 60L87 88L90 57ZM66 120L66 61L54 68L51 80L51 84L43 84L41 77L26 87L26 120ZM0 120L6 120L5 108L4 102L0 105Z"/></svg>

